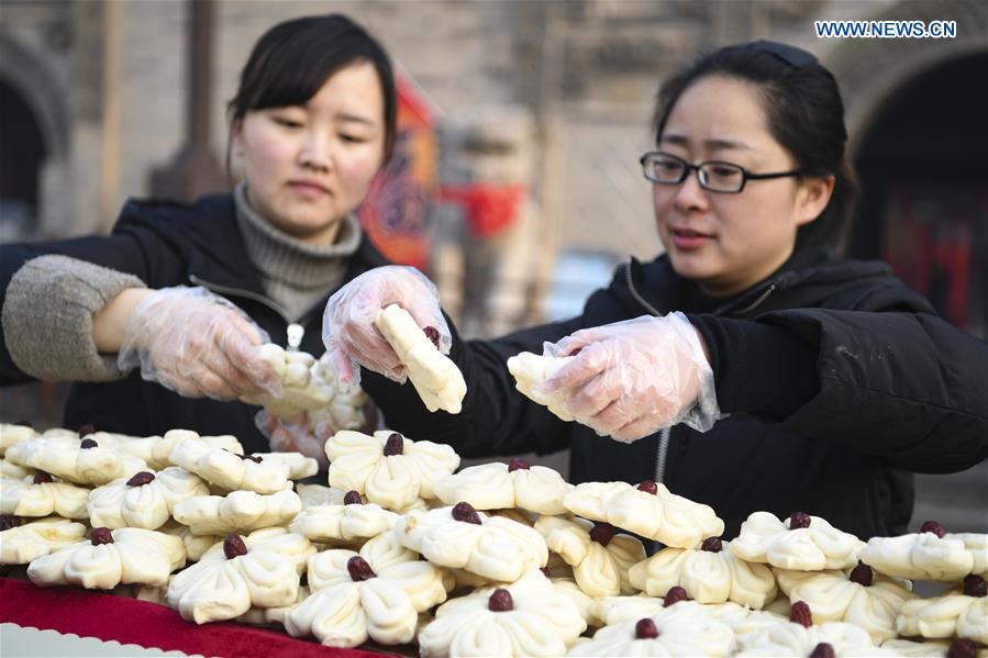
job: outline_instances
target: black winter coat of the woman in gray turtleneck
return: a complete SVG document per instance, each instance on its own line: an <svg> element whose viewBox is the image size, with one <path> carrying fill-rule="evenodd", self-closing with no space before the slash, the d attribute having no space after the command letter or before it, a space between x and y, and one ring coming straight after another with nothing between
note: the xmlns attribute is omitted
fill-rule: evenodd
<svg viewBox="0 0 988 658"><path fill-rule="evenodd" d="M140 277L148 288L202 286L243 309L271 341L285 345L288 320L264 293L257 270L247 257L236 223L233 197L203 197L193 204L129 201L109 236L62 242L4 245L0 286L7 290L24 261L44 254L62 254ZM342 279L381 265L385 258L366 235ZM306 333L300 349L320 355L322 311L326 298L299 322ZM30 380L0 350L0 384ZM203 435L233 434L247 450L267 450L267 439L254 425L259 408L241 402L182 398L141 379L140 370L109 383L75 383L65 409L65 426L92 423L97 430L149 436L182 427Z"/></svg>

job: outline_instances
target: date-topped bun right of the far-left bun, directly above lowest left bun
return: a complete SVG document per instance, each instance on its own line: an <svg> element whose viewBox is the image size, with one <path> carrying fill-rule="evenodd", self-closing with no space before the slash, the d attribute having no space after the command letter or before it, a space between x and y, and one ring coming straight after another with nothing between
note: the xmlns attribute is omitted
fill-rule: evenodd
<svg viewBox="0 0 988 658"><path fill-rule="evenodd" d="M190 498L209 495L198 476L171 466L157 473L141 471L92 490L89 517L93 526L157 529L175 506Z"/></svg>

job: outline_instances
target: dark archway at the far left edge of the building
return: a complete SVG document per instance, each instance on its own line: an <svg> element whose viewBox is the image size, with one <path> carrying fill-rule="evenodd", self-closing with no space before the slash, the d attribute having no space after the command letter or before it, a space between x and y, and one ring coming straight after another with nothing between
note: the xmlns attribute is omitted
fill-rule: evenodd
<svg viewBox="0 0 988 658"><path fill-rule="evenodd" d="M0 242L35 233L47 148L24 98L0 79Z"/></svg>

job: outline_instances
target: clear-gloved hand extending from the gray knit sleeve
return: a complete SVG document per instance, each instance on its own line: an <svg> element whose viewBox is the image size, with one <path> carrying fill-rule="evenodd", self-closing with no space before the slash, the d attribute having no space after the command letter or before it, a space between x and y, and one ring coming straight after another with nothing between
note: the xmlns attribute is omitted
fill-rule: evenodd
<svg viewBox="0 0 988 658"><path fill-rule="evenodd" d="M134 309L116 357L121 370L188 398L236 400L281 394L259 358L267 334L230 301L204 288L163 288Z"/></svg>

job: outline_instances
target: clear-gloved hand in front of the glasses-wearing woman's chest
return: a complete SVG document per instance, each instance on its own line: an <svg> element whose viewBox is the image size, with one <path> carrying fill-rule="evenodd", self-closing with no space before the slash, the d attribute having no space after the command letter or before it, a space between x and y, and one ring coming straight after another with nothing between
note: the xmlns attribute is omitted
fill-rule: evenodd
<svg viewBox="0 0 988 658"><path fill-rule="evenodd" d="M580 330L546 356L574 356L536 387L601 436L631 443L686 423L706 432L721 417L702 337L682 313Z"/></svg>

